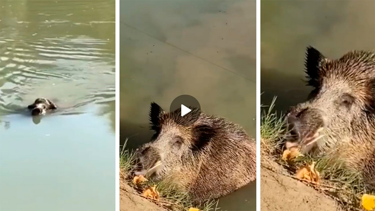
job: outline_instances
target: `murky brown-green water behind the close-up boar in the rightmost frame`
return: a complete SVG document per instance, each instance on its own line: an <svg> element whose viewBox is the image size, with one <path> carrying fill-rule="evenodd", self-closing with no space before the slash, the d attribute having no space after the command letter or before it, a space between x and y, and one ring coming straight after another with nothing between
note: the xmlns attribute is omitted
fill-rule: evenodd
<svg viewBox="0 0 375 211"><path fill-rule="evenodd" d="M374 1L261 1L261 103L277 110L304 101L308 45L326 57L375 49Z"/></svg>

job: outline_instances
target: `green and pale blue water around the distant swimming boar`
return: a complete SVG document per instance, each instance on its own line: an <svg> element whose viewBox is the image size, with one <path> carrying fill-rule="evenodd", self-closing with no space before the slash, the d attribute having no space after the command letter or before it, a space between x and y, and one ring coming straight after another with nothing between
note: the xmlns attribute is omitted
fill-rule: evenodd
<svg viewBox="0 0 375 211"><path fill-rule="evenodd" d="M114 210L114 23L114 1L1 1L0 210Z"/></svg>

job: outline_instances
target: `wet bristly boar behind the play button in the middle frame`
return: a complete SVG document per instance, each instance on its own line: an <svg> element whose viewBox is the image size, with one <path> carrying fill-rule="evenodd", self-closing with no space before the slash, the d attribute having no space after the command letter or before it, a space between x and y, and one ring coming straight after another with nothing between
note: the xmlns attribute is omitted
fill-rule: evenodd
<svg viewBox="0 0 375 211"><path fill-rule="evenodd" d="M156 180L172 179L191 200L202 202L237 190L255 180L256 144L242 127L192 108L165 112L151 103L153 141L138 149L143 169L161 161ZM176 122L198 118L192 125Z"/></svg>

